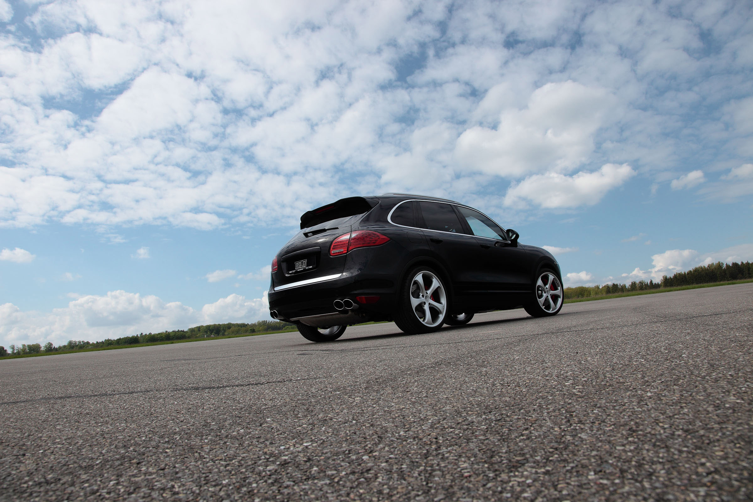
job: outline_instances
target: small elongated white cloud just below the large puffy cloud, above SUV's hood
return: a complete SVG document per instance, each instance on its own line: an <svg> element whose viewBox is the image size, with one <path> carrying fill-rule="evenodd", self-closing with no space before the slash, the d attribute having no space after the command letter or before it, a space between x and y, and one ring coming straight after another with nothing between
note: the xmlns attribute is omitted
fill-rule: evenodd
<svg viewBox="0 0 753 502"><path fill-rule="evenodd" d="M511 184L505 194L505 205L521 205L526 200L542 208L595 205L609 190L619 187L635 174L627 164L605 164L598 171L579 172L572 176L556 172L533 175Z"/></svg>

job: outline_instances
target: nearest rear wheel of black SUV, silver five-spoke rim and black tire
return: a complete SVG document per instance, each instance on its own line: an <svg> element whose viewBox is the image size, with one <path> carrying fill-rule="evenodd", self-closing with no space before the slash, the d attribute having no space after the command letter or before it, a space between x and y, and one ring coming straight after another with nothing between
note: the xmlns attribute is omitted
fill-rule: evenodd
<svg viewBox="0 0 753 502"><path fill-rule="evenodd" d="M450 296L444 284L444 278L431 267L422 265L410 269L398 291L398 306L393 315L395 324L411 335L439 330L450 308Z"/></svg>

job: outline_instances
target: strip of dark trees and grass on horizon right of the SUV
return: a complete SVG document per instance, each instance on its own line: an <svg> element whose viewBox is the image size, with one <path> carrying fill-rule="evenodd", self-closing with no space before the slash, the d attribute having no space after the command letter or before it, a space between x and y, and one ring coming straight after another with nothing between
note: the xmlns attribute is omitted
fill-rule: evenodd
<svg viewBox="0 0 753 502"><path fill-rule="evenodd" d="M632 291L646 291L660 288L675 288L676 286L693 286L696 284L711 284L712 282L739 281L753 278L753 263L711 263L697 266L687 272L675 272L671 277L664 275L660 282L653 279L633 281L630 284L604 284L603 286L578 286L565 288L565 300L572 298L602 297L608 294L630 293Z"/></svg>

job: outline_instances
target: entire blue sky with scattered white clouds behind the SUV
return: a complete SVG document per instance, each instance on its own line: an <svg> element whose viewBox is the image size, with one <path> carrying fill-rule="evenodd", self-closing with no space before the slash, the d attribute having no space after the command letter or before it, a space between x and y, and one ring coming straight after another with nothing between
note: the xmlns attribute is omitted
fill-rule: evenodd
<svg viewBox="0 0 753 502"><path fill-rule="evenodd" d="M344 196L445 196L566 284L753 259L753 4L0 0L0 343L268 318Z"/></svg>

